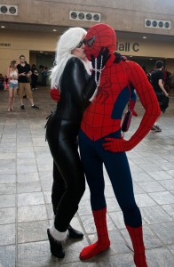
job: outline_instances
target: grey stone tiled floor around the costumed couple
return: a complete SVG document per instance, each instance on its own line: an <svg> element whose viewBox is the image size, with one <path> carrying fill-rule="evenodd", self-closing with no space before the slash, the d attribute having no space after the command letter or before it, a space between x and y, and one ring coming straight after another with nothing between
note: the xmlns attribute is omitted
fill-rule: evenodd
<svg viewBox="0 0 174 267"><path fill-rule="evenodd" d="M7 91L0 91L0 266L1 267L130 267L134 266L130 238L123 214L106 176L107 223L111 247L107 252L82 263L81 249L96 239L91 216L89 189L85 190L72 225L83 231L81 241L66 241L66 256L51 256L46 228L51 221L52 159L44 140L45 117L54 108L49 89L40 87L34 99L40 109L7 110ZM136 129L143 109L130 125ZM149 133L127 153L135 197L140 207L149 267L174 266L174 98L162 116L162 133Z"/></svg>

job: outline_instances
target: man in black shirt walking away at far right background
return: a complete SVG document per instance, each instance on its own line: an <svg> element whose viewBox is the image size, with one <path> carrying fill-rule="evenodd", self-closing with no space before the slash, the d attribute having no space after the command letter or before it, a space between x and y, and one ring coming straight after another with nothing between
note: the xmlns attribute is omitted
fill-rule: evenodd
<svg viewBox="0 0 174 267"><path fill-rule="evenodd" d="M155 70L151 74L151 84L153 85L154 92L156 93L160 109L162 113L166 110L166 105L164 105L163 102L163 96L169 98L169 94L166 92L164 86L163 86L163 62L162 61L156 61L155 63ZM161 114L162 114L161 113ZM159 117L160 118L160 117ZM159 121L159 118L157 121ZM162 129L157 125L157 121L155 122L154 126L152 127L152 131L154 132L162 132Z"/></svg>

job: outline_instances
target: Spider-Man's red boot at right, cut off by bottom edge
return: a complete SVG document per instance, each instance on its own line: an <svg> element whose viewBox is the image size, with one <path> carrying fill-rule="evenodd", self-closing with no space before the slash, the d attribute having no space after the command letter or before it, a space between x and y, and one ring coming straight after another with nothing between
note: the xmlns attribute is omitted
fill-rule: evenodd
<svg viewBox="0 0 174 267"><path fill-rule="evenodd" d="M134 263L137 267L147 267L142 226L137 228L126 225L134 249Z"/></svg>

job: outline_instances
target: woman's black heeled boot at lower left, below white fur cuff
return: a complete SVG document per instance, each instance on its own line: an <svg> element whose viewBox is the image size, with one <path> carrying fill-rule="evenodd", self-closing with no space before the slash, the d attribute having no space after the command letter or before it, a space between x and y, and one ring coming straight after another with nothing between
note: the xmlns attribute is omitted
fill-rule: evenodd
<svg viewBox="0 0 174 267"><path fill-rule="evenodd" d="M64 258L65 251L61 245L61 241L57 241L56 239L52 238L50 229L47 229L47 234L48 234L48 239L50 241L51 254L57 258Z"/></svg>

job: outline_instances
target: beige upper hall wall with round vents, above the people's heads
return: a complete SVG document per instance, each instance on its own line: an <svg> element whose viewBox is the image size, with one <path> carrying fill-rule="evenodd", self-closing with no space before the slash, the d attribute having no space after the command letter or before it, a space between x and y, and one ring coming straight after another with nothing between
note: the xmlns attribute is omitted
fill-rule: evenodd
<svg viewBox="0 0 174 267"><path fill-rule="evenodd" d="M154 69L157 60L174 73L173 2L163 1L42 1L0 3L0 58L4 73L13 58L25 54L30 65L51 68L59 36L69 27L95 23L115 28L117 51L131 61Z"/></svg>

